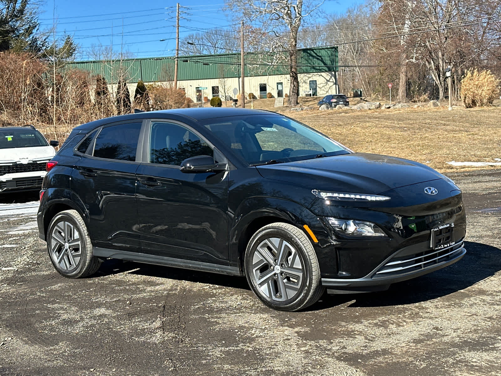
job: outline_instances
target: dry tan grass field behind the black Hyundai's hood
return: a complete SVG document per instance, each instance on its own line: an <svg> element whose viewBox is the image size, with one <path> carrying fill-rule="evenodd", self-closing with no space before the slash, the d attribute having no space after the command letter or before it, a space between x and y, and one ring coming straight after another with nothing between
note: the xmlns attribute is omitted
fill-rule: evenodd
<svg viewBox="0 0 501 376"><path fill-rule="evenodd" d="M448 161L501 158L501 108L409 108L284 112L354 151L416 160L441 171ZM474 167L473 167L474 168ZM485 168L485 167L482 167Z"/></svg>

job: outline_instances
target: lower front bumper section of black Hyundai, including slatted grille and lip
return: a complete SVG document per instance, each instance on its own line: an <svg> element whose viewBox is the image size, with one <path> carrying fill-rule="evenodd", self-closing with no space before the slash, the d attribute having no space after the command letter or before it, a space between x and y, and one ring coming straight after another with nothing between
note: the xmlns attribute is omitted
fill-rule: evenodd
<svg viewBox="0 0 501 376"><path fill-rule="evenodd" d="M451 265L464 256L464 242L450 247L409 254L404 248L384 260L362 278L322 278L328 293L353 293L386 290L390 284L416 278ZM330 287L333 287L332 289Z"/></svg>

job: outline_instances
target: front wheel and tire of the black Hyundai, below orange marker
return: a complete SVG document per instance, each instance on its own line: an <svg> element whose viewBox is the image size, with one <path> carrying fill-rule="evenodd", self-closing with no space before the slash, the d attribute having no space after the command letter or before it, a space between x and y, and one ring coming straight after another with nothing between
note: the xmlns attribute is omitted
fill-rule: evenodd
<svg viewBox="0 0 501 376"><path fill-rule="evenodd" d="M250 238L244 268L256 296L276 310L292 312L306 308L325 291L310 240L288 223L272 223Z"/></svg>

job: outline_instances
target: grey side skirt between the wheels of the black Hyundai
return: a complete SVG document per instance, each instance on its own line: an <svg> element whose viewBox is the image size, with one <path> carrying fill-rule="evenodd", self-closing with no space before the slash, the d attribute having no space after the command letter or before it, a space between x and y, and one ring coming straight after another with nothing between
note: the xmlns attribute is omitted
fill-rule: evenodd
<svg viewBox="0 0 501 376"><path fill-rule="evenodd" d="M229 274L237 276L243 275L242 272L234 266L225 266L225 265L210 264L200 261L175 259L172 257L148 255L146 253L119 251L116 249L107 249L99 247L94 247L93 253L94 256L101 258L112 258L119 260L142 262L145 264L171 266L174 268L200 270L202 272L212 272L212 273Z"/></svg>

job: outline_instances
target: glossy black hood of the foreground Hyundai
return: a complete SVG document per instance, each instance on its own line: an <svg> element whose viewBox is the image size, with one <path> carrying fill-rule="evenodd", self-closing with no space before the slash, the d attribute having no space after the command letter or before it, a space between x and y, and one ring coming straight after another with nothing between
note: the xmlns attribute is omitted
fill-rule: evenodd
<svg viewBox="0 0 501 376"><path fill-rule="evenodd" d="M352 153L258 166L269 179L334 192L380 194L401 186L443 178L421 163L386 155Z"/></svg>

